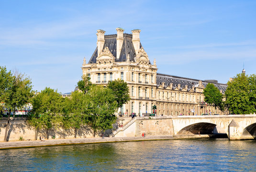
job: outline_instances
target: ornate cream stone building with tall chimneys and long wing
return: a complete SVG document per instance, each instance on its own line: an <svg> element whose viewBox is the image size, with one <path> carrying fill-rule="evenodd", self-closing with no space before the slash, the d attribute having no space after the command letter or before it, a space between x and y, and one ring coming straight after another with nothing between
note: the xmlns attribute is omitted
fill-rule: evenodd
<svg viewBox="0 0 256 172"><path fill-rule="evenodd" d="M223 114L204 102L202 91L208 83L213 83L224 93L226 84L158 74L156 60L150 62L140 43L141 31L127 34L122 28L116 30L117 34L112 35L97 31L97 48L88 64L84 58L82 71L94 84L107 85L117 78L127 82L131 100L119 109L119 115L148 115L154 105L157 115Z"/></svg>

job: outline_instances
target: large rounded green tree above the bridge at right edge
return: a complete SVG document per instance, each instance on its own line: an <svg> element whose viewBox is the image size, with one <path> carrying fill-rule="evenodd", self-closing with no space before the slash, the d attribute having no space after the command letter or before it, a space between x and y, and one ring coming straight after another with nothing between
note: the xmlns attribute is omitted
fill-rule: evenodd
<svg viewBox="0 0 256 172"><path fill-rule="evenodd" d="M225 91L226 104L231 113L249 114L256 110L256 76L237 74L228 82Z"/></svg>

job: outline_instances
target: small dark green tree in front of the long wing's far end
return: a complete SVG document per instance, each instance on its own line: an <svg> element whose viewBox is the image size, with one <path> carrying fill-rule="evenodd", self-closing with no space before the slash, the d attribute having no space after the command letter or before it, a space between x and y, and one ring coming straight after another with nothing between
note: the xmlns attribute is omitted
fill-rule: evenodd
<svg viewBox="0 0 256 172"><path fill-rule="evenodd" d="M223 110L223 94L220 92L220 90L214 86L214 84L207 84L207 86L203 90L204 100L215 107L215 113L217 107L219 109Z"/></svg>

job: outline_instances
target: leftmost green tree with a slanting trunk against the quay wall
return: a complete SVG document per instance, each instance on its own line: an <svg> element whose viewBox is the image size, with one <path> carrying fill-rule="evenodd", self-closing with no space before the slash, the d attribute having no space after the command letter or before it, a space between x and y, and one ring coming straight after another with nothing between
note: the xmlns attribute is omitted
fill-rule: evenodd
<svg viewBox="0 0 256 172"><path fill-rule="evenodd" d="M33 96L30 78L15 71L7 72L6 67L0 66L0 101L4 102L4 107L8 110L8 119L5 129L4 141L7 140L7 132L10 124L11 111L15 114L16 108L22 108Z"/></svg>

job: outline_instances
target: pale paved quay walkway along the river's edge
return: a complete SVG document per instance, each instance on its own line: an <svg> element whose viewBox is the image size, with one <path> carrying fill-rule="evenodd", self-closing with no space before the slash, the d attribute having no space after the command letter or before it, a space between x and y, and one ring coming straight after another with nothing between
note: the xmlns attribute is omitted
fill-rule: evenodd
<svg viewBox="0 0 256 172"><path fill-rule="evenodd" d="M90 144L90 143L109 143L123 141L143 141L143 140L170 140L173 136L149 136L149 137L122 137L122 138L78 138L78 139L51 139L45 141L8 141L0 142L0 149L14 148L32 148L40 146L57 146L57 145L73 145L73 144Z"/></svg>

